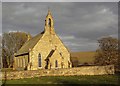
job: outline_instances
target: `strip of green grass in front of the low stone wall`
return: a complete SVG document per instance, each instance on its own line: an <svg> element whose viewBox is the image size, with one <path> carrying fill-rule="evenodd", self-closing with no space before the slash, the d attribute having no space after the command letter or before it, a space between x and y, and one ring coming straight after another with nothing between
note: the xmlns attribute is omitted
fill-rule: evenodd
<svg viewBox="0 0 120 86"><path fill-rule="evenodd" d="M4 81L3 81L4 82ZM44 76L18 80L7 80L6 84L114 84L118 85L117 75L102 76Z"/></svg>

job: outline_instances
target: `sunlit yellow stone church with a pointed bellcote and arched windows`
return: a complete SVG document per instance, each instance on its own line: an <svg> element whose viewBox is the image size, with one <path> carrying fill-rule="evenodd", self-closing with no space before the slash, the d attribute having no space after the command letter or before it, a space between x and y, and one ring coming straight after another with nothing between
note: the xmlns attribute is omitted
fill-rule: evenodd
<svg viewBox="0 0 120 86"><path fill-rule="evenodd" d="M70 52L54 31L54 21L48 11L44 31L26 41L14 54L15 70L71 68Z"/></svg>

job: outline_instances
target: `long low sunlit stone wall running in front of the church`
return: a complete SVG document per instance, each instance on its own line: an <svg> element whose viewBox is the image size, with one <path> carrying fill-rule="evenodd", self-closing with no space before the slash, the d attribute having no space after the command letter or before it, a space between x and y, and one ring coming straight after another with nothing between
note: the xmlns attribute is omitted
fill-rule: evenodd
<svg viewBox="0 0 120 86"><path fill-rule="evenodd" d="M29 71L2 72L2 79L20 79L40 76L73 76L114 74L114 66L86 66L69 69L41 69Z"/></svg>

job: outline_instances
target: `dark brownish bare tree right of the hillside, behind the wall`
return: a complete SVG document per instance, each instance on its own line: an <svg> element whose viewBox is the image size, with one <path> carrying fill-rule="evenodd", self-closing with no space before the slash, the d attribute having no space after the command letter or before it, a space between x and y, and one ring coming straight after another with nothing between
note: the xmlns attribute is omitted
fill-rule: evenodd
<svg viewBox="0 0 120 86"><path fill-rule="evenodd" d="M118 39L112 37L101 38L98 40L99 49L96 51L95 64L110 65L114 64L118 68Z"/></svg>

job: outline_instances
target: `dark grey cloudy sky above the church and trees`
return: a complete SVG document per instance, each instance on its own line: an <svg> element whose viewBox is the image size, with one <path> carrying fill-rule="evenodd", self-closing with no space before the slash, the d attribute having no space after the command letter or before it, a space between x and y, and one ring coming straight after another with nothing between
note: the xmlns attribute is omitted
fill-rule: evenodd
<svg viewBox="0 0 120 86"><path fill-rule="evenodd" d="M117 37L117 6L117 2L3 2L2 32L35 36L44 30L49 7L55 31L71 51L94 51L99 38Z"/></svg>

